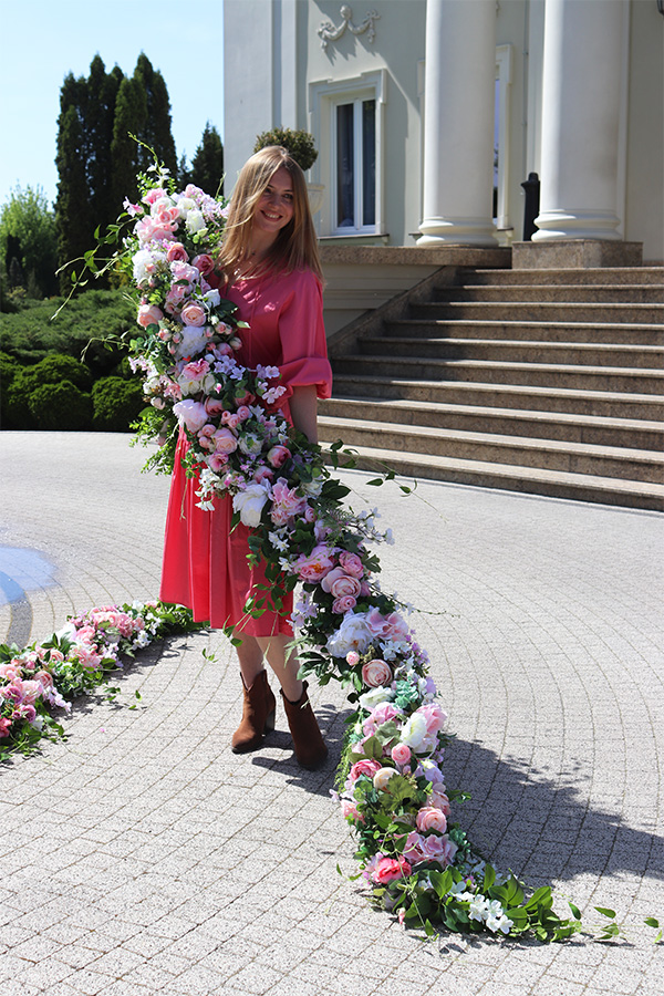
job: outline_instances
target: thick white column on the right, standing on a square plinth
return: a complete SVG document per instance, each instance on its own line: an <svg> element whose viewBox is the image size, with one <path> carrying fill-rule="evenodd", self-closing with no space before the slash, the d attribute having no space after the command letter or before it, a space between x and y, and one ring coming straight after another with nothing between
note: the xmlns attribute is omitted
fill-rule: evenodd
<svg viewBox="0 0 664 996"><path fill-rule="evenodd" d="M539 229L618 239L625 0L547 0Z"/></svg>

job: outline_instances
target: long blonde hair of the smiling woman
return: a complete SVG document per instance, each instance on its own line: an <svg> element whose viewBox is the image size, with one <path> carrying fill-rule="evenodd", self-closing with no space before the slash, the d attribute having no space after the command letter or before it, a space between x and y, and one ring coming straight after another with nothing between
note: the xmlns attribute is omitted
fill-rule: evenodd
<svg viewBox="0 0 664 996"><path fill-rule="evenodd" d="M277 170L281 168L286 169L291 178L293 217L277 235L260 267L260 272L276 270L290 273L292 270L309 269L313 270L319 280L323 279L304 174L286 148L280 145L268 145L247 159L230 199L224 243L217 259L218 268L229 282L232 282L238 267L247 260L247 248L258 201Z"/></svg>

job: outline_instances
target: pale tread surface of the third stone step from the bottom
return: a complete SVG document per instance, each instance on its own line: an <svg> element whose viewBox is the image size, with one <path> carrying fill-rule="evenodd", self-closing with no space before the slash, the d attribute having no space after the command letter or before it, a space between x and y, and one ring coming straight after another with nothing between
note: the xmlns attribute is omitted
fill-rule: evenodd
<svg viewBox="0 0 664 996"><path fill-rule="evenodd" d="M488 386L490 387L490 385ZM548 395L551 393L544 387L540 387L539 390ZM574 392L567 393L571 394ZM637 398L642 398L643 396L644 395L641 394L635 395L635 397ZM621 397L624 397L624 395L621 395ZM658 398L655 400L658 401ZM407 401L403 398L390 397L355 397L350 395L334 395L331 401L343 402L344 405L347 404L349 406L385 405L388 408L396 411L403 409L404 412L438 412L440 415L446 415L448 413L460 413L461 415L486 416L487 418L512 418L515 422L532 419L537 422L557 422L560 424L588 425L602 428L634 429L636 432L660 432L662 433L664 439L664 425L661 422L651 422L645 418L611 418L605 415L575 415L569 412L548 412L543 408L496 408L489 405L445 404L442 402L421 402L416 400ZM330 417L336 418L341 416ZM403 423L398 424L402 426L404 425ZM408 423L408 426L411 423Z"/></svg>

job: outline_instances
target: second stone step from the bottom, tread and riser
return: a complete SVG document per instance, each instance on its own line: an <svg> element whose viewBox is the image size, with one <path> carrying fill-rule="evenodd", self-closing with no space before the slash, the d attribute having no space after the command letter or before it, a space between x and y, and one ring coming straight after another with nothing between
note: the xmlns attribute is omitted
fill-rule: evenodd
<svg viewBox="0 0 664 996"><path fill-rule="evenodd" d="M651 450L428 426L403 426L386 422L354 422L332 416L319 418L319 434L325 443L342 438L351 447L370 446L455 459L515 464L543 470L592 474L651 484L664 483L664 455Z"/></svg>

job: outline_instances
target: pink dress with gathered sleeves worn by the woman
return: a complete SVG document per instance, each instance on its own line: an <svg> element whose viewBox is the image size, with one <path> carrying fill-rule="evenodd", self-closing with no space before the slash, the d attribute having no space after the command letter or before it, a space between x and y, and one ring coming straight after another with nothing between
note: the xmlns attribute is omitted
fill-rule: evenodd
<svg viewBox="0 0 664 996"><path fill-rule="evenodd" d="M314 273L299 270L247 278L222 293L250 325L242 333L238 361L252 369L257 363L280 369L280 383L287 391L279 403L289 421L293 387L315 384L319 397L330 397L323 295ZM196 621L208 620L217 629L232 624L252 636L290 634L292 595L284 599L284 614L267 610L251 619L245 613L253 585L264 582L262 569L247 562L249 530L239 525L230 532L232 501L228 497L216 499L212 511L196 506L197 480L186 477L179 459L185 447L180 435L166 517L162 601L186 605Z"/></svg>

